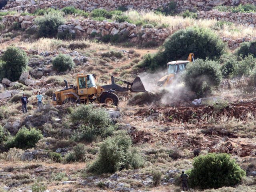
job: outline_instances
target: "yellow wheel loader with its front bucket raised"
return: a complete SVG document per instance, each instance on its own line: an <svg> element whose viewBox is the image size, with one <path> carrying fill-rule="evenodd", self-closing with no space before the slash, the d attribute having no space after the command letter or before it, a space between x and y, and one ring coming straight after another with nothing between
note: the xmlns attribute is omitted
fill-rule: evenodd
<svg viewBox="0 0 256 192"><path fill-rule="evenodd" d="M111 84L96 86L94 74L78 74L76 76L76 86L70 85L64 80L66 88L54 92L53 104L61 105L67 102L84 103L90 102L108 103L118 106L119 99L115 91L128 91L131 92L145 92L144 85L142 84L140 77L136 77L132 83L120 80L114 76L111 76ZM121 81L126 84L126 87L119 86L115 83L115 80Z"/></svg>

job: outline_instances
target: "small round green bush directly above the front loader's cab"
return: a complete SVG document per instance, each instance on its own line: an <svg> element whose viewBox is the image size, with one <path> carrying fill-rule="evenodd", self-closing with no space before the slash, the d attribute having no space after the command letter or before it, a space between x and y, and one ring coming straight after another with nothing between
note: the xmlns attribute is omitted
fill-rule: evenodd
<svg viewBox="0 0 256 192"><path fill-rule="evenodd" d="M52 60L52 66L58 70L58 72L63 72L68 69L71 70L74 68L75 64L72 57L69 55L58 54L58 56Z"/></svg>

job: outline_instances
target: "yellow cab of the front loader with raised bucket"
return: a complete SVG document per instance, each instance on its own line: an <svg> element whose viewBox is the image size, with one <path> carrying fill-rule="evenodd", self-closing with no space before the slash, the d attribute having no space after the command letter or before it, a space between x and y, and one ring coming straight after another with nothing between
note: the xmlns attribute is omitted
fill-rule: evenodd
<svg viewBox="0 0 256 192"><path fill-rule="evenodd" d="M90 95L97 93L97 86L95 83L95 75L78 74L76 76L76 84L78 87L78 95Z"/></svg>

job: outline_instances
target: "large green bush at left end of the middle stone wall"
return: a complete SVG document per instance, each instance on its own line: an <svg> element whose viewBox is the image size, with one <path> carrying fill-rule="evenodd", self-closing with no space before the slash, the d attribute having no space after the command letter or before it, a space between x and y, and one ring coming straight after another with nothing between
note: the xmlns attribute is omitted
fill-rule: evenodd
<svg viewBox="0 0 256 192"><path fill-rule="evenodd" d="M38 24L39 37L55 37L58 33L58 27L63 25L65 19L59 12L49 12L43 17L36 18Z"/></svg>

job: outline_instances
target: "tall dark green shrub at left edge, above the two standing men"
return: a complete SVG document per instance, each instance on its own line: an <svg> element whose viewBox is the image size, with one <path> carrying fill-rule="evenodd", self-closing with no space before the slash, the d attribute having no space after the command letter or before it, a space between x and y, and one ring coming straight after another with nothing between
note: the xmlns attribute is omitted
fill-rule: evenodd
<svg viewBox="0 0 256 192"><path fill-rule="evenodd" d="M8 47L2 55L2 61L4 77L8 78L10 81L16 81L26 69L28 57L26 52L20 48Z"/></svg>

